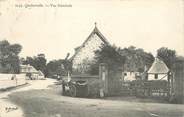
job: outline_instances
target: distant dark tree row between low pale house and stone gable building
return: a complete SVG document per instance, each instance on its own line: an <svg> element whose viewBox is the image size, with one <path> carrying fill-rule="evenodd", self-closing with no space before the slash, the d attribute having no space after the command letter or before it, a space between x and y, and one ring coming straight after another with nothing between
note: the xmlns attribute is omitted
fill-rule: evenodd
<svg viewBox="0 0 184 117"><path fill-rule="evenodd" d="M69 55L67 55L69 56ZM38 54L34 57L21 58L22 64L30 64L36 70L41 70L46 77L52 77L54 75L66 75L67 71L71 71L72 63L66 59L52 60L47 63L44 54Z"/></svg>

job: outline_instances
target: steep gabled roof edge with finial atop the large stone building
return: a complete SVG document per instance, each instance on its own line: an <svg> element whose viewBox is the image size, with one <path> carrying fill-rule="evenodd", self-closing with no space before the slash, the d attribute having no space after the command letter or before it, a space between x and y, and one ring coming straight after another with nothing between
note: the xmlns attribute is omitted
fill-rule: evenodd
<svg viewBox="0 0 184 117"><path fill-rule="evenodd" d="M81 46L75 48L75 54L70 58L70 60L73 60L73 58L78 54L78 52L81 51L81 49L85 46L85 44L88 42L90 37L94 34L98 35L98 37L104 42L104 44L110 45L110 43L107 41L107 39L99 31L99 29L97 28L96 23L95 23L95 28L93 29L93 31L90 33L90 35L87 37L87 39L82 43Z"/></svg>

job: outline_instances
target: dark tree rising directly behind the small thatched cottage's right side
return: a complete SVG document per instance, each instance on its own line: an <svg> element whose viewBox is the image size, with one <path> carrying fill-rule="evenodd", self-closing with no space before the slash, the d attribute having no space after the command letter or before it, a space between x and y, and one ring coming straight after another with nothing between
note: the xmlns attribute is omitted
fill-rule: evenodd
<svg viewBox="0 0 184 117"><path fill-rule="evenodd" d="M157 57L165 62L169 69L172 68L174 61L176 60L176 51L161 47L157 50Z"/></svg>

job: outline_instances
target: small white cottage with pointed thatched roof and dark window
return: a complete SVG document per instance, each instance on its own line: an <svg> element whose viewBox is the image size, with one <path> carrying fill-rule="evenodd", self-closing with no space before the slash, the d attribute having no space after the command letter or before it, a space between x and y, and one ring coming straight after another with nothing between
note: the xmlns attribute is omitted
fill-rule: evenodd
<svg viewBox="0 0 184 117"><path fill-rule="evenodd" d="M169 68L162 60L155 58L147 73L148 80L168 80Z"/></svg>

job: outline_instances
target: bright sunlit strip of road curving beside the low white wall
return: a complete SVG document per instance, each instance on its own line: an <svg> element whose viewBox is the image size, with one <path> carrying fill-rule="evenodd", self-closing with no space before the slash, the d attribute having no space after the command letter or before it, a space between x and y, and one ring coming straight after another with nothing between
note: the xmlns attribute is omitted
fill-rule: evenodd
<svg viewBox="0 0 184 117"><path fill-rule="evenodd" d="M11 91L2 92L0 93L0 117L23 117L23 111L20 107L17 105L11 103L8 100L8 95L12 94L14 92L20 92L20 91L28 91L33 89L47 89L48 85L51 85L55 82L53 79L47 79L47 80L29 80L29 85L17 88ZM16 107L18 107L16 109ZM6 110L6 108L11 108Z"/></svg>

